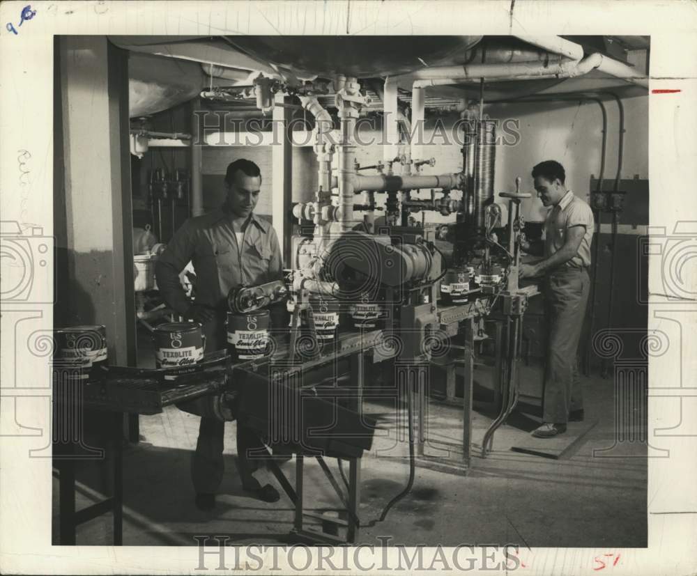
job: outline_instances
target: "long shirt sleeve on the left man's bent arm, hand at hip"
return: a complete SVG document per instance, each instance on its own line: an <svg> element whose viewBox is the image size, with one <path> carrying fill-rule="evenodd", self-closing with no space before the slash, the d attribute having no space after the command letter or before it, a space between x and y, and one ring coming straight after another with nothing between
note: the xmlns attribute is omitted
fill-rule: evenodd
<svg viewBox="0 0 697 576"><path fill-rule="evenodd" d="M181 316L185 316L191 302L181 286L179 274L194 255L195 247L195 231L186 221L155 263L155 279L162 299Z"/></svg>

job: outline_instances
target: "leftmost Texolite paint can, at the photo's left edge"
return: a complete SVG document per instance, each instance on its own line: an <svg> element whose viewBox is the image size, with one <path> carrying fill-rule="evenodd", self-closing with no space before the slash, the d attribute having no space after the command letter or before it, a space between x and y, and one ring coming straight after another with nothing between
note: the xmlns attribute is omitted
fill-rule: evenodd
<svg viewBox="0 0 697 576"><path fill-rule="evenodd" d="M107 329L102 325L70 326L54 330L54 362L82 382L106 377Z"/></svg>

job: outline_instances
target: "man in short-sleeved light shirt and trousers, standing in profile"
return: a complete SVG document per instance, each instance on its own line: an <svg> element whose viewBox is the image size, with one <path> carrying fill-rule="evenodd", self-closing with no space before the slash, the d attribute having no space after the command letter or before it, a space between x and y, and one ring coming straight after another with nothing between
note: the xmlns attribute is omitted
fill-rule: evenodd
<svg viewBox="0 0 697 576"><path fill-rule="evenodd" d="M544 258L522 264L520 277L545 277L549 338L543 423L532 434L548 438L564 433L568 421L583 420L576 352L590 290L588 267L595 220L590 206L566 188L566 174L559 162L537 164L533 178L542 204L551 210L544 222L544 244L523 246L528 253Z"/></svg>

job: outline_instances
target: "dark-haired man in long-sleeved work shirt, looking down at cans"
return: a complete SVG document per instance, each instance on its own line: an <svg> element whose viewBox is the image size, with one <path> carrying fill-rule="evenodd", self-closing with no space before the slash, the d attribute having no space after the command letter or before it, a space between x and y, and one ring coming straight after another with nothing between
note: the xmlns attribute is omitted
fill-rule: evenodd
<svg viewBox="0 0 697 576"><path fill-rule="evenodd" d="M188 219L176 232L155 265L155 275L164 302L183 318L203 325L207 350L227 345L225 319L227 294L231 288L257 286L283 278L278 238L268 221L254 214L259 201L259 166L238 159L227 167L224 182L227 199L219 210ZM191 261L197 275L196 301L186 297L179 273ZM199 439L192 456L191 472L202 509L215 506L215 492L224 472L224 421L215 414L210 398L182 405L183 410L201 416ZM237 452L243 488L264 501L277 501L278 491L263 487L252 476L254 464L247 455L261 448L259 437L237 426Z"/></svg>

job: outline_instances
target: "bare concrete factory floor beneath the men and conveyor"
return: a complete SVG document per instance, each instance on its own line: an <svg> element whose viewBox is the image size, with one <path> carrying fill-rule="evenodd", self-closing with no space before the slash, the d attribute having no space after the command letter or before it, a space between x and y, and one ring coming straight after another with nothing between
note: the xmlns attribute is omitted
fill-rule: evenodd
<svg viewBox="0 0 697 576"><path fill-rule="evenodd" d="M418 467L411 493L392 508L384 522L377 523L374 520L383 506L406 484L408 442L404 428L397 430L394 408L367 402L366 410L378 418L381 430L372 451L362 458L363 527L358 542L378 545L378 536L389 536L392 544L403 545L645 547L645 446L631 444L622 449L621 458L593 457L593 449L614 442L613 384L599 378L583 380L586 413L599 419L599 424L573 456L550 460L511 451L510 446L525 440L534 426L533 420L514 417L496 433L493 453L482 459L479 446L491 419L476 413L475 458L468 475ZM429 413L429 435L457 441L460 411L431 403ZM282 495L276 504L266 504L241 491L235 423L226 428L226 475L217 506L210 513L194 506L189 465L198 423L197 417L175 407L141 417L141 442L127 446L124 453L124 544L195 545L194 536L213 535L227 535L231 544L291 542L293 508L289 499ZM319 465L311 459L306 462L307 508L337 508L339 501ZM336 460L327 462L339 478ZM282 470L294 484L294 460L282 465ZM265 478L275 483L269 472L260 474L262 483ZM103 491L102 479L100 474L82 474L78 508L95 501ZM55 520L54 512L54 534ZM105 515L79 527L77 542L109 545L111 534L111 516Z"/></svg>

